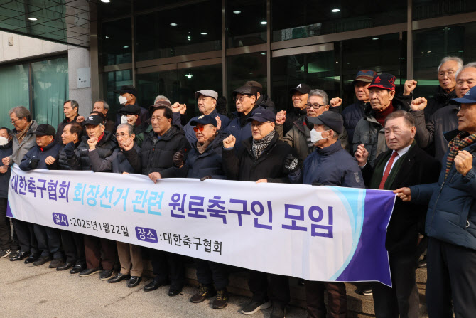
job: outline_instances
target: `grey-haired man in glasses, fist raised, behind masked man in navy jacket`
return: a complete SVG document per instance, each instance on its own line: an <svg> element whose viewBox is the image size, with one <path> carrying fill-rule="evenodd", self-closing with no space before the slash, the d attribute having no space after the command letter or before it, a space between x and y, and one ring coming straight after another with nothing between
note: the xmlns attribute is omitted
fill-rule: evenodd
<svg viewBox="0 0 476 318"><path fill-rule="evenodd" d="M310 90L308 101L305 104L307 117L318 117L323 112L327 112L329 108L329 97L326 92L323 90ZM315 149L314 144L310 142L309 127L312 127L312 124L309 124L307 117L303 116L293 122L291 130L283 137L283 123L286 120L286 115L282 117L276 116L276 132L278 132L283 142L296 149L300 166L303 164L304 159ZM339 140L342 148L347 149L349 147L345 129L339 135Z"/></svg>

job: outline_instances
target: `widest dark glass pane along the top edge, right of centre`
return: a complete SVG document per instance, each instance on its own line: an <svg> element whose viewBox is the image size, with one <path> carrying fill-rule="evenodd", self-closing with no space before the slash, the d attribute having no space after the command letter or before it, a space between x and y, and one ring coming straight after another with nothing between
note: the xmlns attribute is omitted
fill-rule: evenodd
<svg viewBox="0 0 476 318"><path fill-rule="evenodd" d="M303 0L290 9L287 1L273 1L273 41L307 38L406 22L406 1Z"/></svg>

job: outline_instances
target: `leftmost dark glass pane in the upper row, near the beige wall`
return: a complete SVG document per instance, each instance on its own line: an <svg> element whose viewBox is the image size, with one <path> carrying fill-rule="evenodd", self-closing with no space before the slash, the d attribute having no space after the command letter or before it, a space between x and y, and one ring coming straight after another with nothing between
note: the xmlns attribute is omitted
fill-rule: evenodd
<svg viewBox="0 0 476 318"><path fill-rule="evenodd" d="M131 18L102 23L102 63L132 62Z"/></svg>

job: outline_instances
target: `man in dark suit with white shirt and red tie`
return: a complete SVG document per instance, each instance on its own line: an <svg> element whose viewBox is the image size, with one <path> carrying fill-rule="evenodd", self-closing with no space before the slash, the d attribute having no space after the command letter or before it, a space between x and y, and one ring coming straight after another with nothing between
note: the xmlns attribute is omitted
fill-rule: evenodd
<svg viewBox="0 0 476 318"><path fill-rule="evenodd" d="M377 157L374 167L367 164L369 153L364 144L360 144L355 152L368 188L394 190L438 180L440 163L423 152L414 141L416 128L413 116L403 110L391 113L386 117L384 132L389 150ZM372 285L377 317L418 317L419 296L415 274L418 221L425 217L427 208L401 200L395 203L385 242L389 251L392 287L379 282Z"/></svg>

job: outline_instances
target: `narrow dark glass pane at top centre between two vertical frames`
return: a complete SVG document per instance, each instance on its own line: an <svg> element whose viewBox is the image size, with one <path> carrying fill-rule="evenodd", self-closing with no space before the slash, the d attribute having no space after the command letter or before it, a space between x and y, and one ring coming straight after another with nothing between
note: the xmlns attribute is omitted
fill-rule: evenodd
<svg viewBox="0 0 476 318"><path fill-rule="evenodd" d="M266 1L227 1L228 48L266 43Z"/></svg>

